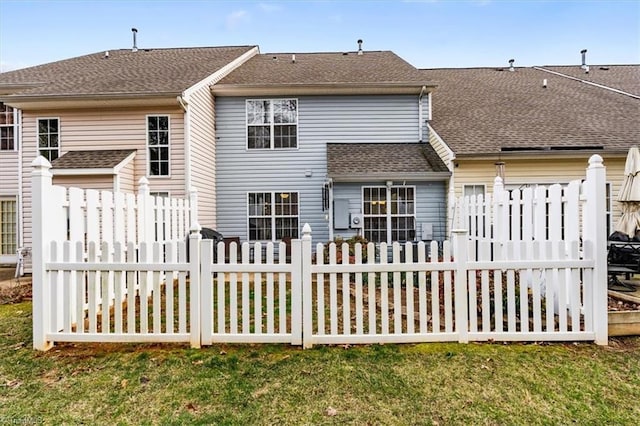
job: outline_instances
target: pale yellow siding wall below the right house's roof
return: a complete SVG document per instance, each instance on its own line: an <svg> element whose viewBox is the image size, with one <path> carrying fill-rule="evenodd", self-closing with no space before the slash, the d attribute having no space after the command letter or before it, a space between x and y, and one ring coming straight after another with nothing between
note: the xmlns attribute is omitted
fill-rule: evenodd
<svg viewBox="0 0 640 426"><path fill-rule="evenodd" d="M552 184L568 183L575 179L583 179L588 166L589 155L576 158L542 158L510 159L503 158L505 163L505 184L522 185L527 183ZM607 169L607 183L611 188L612 226L620 217L620 206L616 197L624 179L624 163L626 157L604 156ZM495 160L455 160L454 182L456 197L462 195L464 185L485 185L491 192L496 177Z"/></svg>

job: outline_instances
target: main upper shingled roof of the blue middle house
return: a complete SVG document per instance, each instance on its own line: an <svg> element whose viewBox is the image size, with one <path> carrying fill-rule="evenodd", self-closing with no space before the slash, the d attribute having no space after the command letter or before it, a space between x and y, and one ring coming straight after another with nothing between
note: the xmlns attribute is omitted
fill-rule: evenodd
<svg viewBox="0 0 640 426"><path fill-rule="evenodd" d="M274 86L413 86L427 84L424 75L390 51L266 53L255 55L220 80L227 87ZM419 89L418 89L419 90Z"/></svg>

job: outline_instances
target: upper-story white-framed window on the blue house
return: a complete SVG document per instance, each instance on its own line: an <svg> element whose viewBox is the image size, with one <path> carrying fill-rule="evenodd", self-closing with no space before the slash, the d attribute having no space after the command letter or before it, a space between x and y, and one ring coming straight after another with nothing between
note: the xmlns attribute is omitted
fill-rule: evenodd
<svg viewBox="0 0 640 426"><path fill-rule="evenodd" d="M298 147L298 100L247 100L247 148Z"/></svg>

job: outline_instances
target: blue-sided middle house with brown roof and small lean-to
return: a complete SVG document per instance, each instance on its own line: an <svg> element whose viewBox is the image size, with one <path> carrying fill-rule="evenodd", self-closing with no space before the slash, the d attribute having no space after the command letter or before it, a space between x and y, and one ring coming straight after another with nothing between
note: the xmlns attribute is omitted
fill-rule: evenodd
<svg viewBox="0 0 640 426"><path fill-rule="evenodd" d="M267 53L212 86L217 230L243 241L445 238L429 79L390 51Z"/></svg>

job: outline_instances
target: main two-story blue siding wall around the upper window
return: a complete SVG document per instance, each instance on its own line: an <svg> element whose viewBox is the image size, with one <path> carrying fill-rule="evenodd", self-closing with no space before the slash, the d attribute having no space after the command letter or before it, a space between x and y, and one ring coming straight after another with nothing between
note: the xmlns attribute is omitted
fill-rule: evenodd
<svg viewBox="0 0 640 426"><path fill-rule="evenodd" d="M425 96L426 98L426 96ZM309 223L316 241L329 238L322 211L329 142L415 143L416 96L300 96L298 148L247 150L244 97L216 98L217 230L247 239L247 193L298 191L300 228Z"/></svg>

